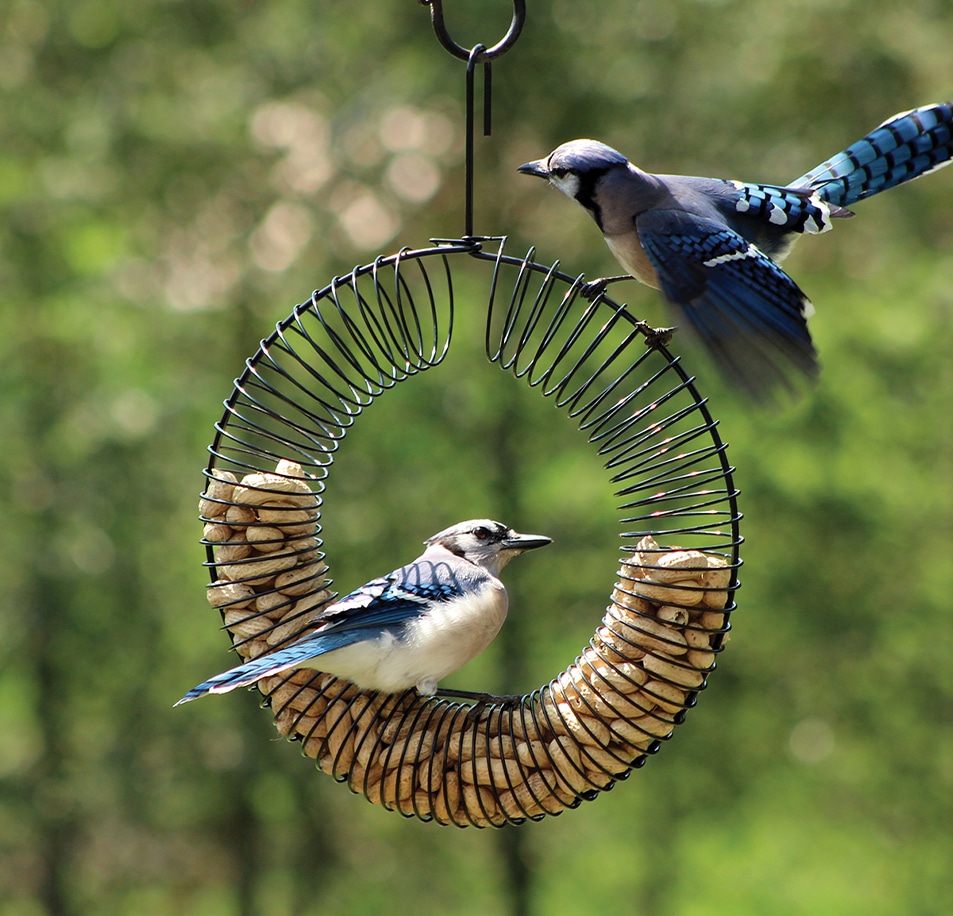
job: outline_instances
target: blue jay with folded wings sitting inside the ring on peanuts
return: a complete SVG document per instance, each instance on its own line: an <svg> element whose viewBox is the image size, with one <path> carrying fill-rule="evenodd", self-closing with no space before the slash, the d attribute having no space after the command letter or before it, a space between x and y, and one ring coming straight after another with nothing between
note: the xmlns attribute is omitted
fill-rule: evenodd
<svg viewBox="0 0 953 916"><path fill-rule="evenodd" d="M424 543L427 549L412 563L312 618L307 625L314 632L215 675L175 705L299 667L334 674L364 690L398 693L416 687L421 696L434 695L440 679L479 655L503 626L508 600L500 570L551 539L474 519Z"/></svg>

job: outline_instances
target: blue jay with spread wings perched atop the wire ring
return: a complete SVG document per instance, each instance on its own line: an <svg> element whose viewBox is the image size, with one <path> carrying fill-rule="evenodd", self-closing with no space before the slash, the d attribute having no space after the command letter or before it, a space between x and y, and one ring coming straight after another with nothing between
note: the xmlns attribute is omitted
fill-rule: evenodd
<svg viewBox="0 0 953 916"><path fill-rule="evenodd" d="M790 387L792 368L809 378L818 371L807 328L813 310L778 266L798 235L826 232L833 219L854 215L851 204L949 165L951 156L946 102L894 115L784 187L653 175L596 140L571 140L519 171L587 210L628 274L660 289L727 377L763 398ZM596 280L584 295L620 279L627 277Z"/></svg>

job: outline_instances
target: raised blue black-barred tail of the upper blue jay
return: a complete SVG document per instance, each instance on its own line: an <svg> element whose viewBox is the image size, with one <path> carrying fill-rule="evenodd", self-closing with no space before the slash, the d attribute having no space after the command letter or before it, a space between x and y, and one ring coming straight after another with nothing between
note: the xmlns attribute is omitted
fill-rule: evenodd
<svg viewBox="0 0 953 916"><path fill-rule="evenodd" d="M829 204L849 207L949 165L953 157L953 101L888 118L862 140L794 181Z"/></svg>

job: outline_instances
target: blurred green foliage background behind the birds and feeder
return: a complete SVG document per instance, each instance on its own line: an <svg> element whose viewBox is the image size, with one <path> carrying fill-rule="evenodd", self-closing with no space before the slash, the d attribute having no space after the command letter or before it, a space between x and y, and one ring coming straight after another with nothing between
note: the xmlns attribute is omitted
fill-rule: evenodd
<svg viewBox="0 0 953 916"><path fill-rule="evenodd" d="M509 23L445 3L461 44ZM616 272L595 227L514 171L558 143L783 183L953 95L946 0L529 7L475 229L589 277ZM947 912L953 169L787 262L810 396L755 411L684 350L738 468L739 610L698 709L611 793L441 828L318 773L254 695L173 712L231 658L196 508L221 402L312 289L463 231L463 86L414 0L0 9L0 914ZM349 590L462 518L552 535L453 681L530 690L601 617L617 519L584 437L466 337L349 436L327 550Z"/></svg>

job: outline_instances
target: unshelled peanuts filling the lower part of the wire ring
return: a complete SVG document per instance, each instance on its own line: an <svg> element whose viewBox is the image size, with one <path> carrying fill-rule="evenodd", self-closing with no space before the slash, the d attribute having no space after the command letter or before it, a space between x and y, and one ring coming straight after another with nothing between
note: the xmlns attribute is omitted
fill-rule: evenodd
<svg viewBox="0 0 953 916"><path fill-rule="evenodd" d="M300 466L282 461L274 475L231 476L216 472L202 501L206 540L220 545L209 600L239 653L252 658L307 632L329 593L314 540L318 501ZM414 691L363 692L311 669L258 686L278 731L375 804L459 826L556 814L672 734L727 631L731 568L721 556L645 537L618 576L586 649L521 700L469 706Z"/></svg>

